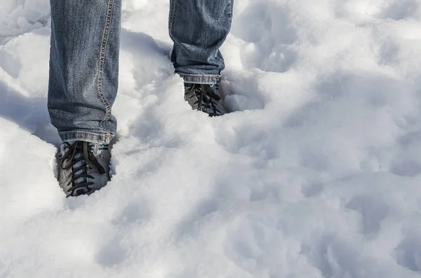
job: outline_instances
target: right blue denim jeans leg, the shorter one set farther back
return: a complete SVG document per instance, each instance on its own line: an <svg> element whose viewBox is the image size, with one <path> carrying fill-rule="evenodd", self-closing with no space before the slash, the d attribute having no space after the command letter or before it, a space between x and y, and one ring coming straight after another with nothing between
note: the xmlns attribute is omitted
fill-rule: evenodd
<svg viewBox="0 0 421 278"><path fill-rule="evenodd" d="M171 60L185 83L218 83L225 67L219 48L231 28L233 1L171 0Z"/></svg>

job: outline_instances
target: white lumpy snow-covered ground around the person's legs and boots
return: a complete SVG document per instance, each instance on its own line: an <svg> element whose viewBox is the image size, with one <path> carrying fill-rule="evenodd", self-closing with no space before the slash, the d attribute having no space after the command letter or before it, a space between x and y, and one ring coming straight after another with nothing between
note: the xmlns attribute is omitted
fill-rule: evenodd
<svg viewBox="0 0 421 278"><path fill-rule="evenodd" d="M0 277L421 277L421 2L237 0L225 103L124 0L115 176L55 180L48 0L0 0Z"/></svg>

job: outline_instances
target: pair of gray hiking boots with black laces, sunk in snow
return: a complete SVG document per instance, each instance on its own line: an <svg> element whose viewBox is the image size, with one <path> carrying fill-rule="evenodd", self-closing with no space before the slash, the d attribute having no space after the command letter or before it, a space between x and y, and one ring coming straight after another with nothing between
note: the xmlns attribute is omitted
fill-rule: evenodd
<svg viewBox="0 0 421 278"><path fill-rule="evenodd" d="M185 100L192 109L222 116L226 110L222 104L218 84L185 83ZM110 179L109 147L86 141L69 141L61 144L59 153L58 181L67 197L90 195L103 188Z"/></svg>

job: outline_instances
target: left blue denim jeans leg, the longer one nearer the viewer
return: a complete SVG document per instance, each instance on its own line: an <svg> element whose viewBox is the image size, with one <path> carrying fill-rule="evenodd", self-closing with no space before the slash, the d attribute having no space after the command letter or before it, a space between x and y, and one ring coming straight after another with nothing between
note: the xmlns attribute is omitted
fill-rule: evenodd
<svg viewBox="0 0 421 278"><path fill-rule="evenodd" d="M121 0L51 0L48 111L62 141L109 144L119 79Z"/></svg>

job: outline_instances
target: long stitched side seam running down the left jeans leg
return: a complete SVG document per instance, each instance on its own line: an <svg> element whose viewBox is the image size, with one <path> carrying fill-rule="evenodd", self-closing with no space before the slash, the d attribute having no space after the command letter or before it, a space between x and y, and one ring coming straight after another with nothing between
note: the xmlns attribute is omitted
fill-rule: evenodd
<svg viewBox="0 0 421 278"><path fill-rule="evenodd" d="M100 66L99 66L99 74L98 74L98 95L100 96L100 99L102 100L102 103L105 106L105 118L101 120L100 125L102 129L105 130L105 132L109 133L109 130L105 126L105 122L111 118L111 106L109 105L109 102L107 98L104 95L104 92L102 91L102 78L104 75L104 65L105 65L105 55L107 53L107 43L108 43L108 36L109 36L109 29L111 27L111 21L112 21L112 12L114 10L114 0L108 1L108 8L107 8L107 18L105 19L105 28L104 33L102 34L102 42L101 42L101 48L100 48Z"/></svg>

